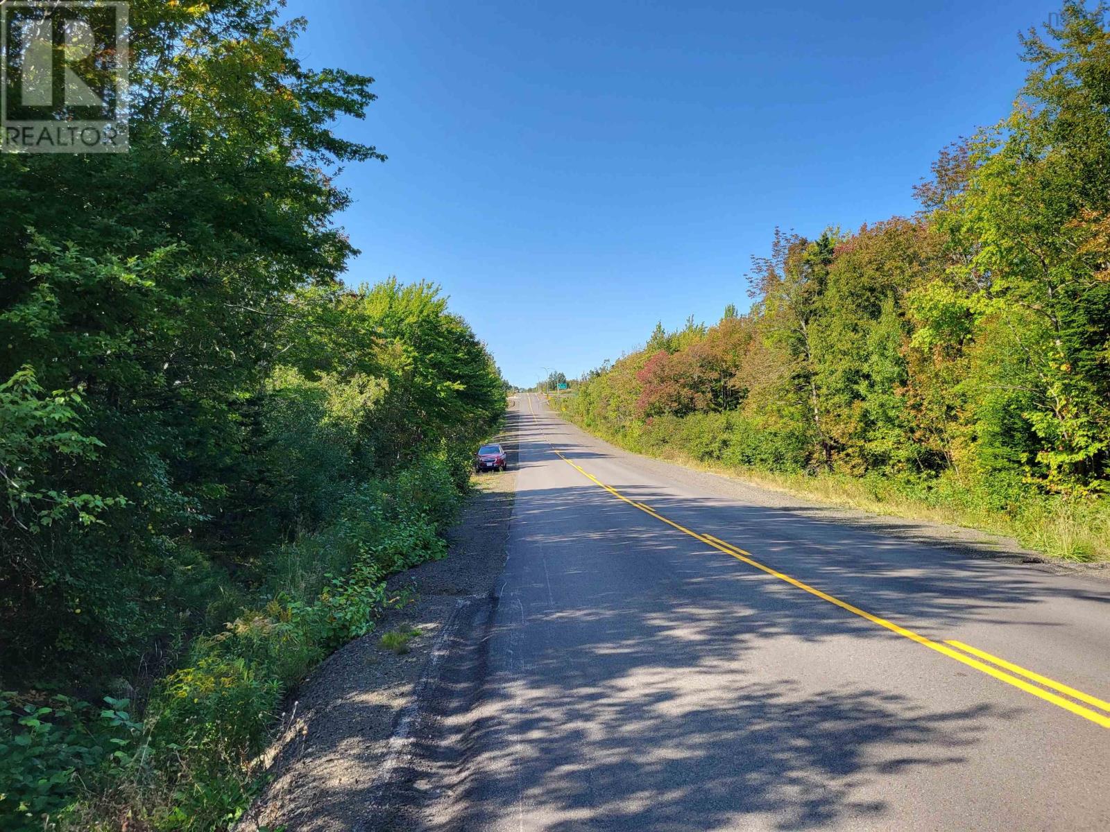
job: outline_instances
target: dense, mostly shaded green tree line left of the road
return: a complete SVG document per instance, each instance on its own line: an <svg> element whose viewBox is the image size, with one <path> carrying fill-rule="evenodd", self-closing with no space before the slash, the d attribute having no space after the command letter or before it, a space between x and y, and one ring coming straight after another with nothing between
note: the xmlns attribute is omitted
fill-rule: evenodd
<svg viewBox="0 0 1110 832"><path fill-rule="evenodd" d="M130 14L131 152L0 158L4 829L231 823L505 405L435 286L340 280L373 79L276 0Z"/></svg>

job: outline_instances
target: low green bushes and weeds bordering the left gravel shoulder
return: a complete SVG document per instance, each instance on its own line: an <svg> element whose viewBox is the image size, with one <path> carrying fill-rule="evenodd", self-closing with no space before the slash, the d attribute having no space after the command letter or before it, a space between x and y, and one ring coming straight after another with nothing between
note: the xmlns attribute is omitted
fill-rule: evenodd
<svg viewBox="0 0 1110 832"><path fill-rule="evenodd" d="M120 700L99 713L64 697L19 709L0 700L0 825L42 829L50 818L87 832L117 829L123 818L159 830L234 822L284 692L373 629L391 574L445 556L440 532L461 496L443 456L363 483L331 522L281 547L260 606L193 641L155 686L142 723Z"/></svg>

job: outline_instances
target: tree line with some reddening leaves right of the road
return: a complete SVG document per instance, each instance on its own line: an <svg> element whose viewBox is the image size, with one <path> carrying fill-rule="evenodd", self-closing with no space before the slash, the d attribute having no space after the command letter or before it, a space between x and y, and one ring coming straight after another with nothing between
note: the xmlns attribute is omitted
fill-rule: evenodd
<svg viewBox="0 0 1110 832"><path fill-rule="evenodd" d="M658 326L568 412L640 449L852 478L1030 534L1054 517L1033 542L1110 554L1106 9L1068 2L1020 40L1012 112L945 149L917 214L777 231L750 312Z"/></svg>

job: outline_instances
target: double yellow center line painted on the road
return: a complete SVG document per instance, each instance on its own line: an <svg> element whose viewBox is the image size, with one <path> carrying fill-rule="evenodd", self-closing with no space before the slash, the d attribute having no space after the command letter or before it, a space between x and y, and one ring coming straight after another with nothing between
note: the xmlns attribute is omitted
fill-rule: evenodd
<svg viewBox="0 0 1110 832"><path fill-rule="evenodd" d="M532 404L531 396L528 396L528 409L532 412L533 420L538 422L538 417L536 416L535 407ZM733 544L726 542L725 540L714 537L713 535L702 535L698 534L697 531L693 531L686 528L685 526L677 524L667 517L664 517L649 506L629 499L628 497L620 494L620 491L618 491L613 486L606 485L597 477L595 477L593 474L582 468L579 465L576 465L575 463L571 461L566 456L564 456L563 451L561 451L554 445L552 446L552 450L554 450L555 454L558 455L559 459L562 459L564 463L566 463L572 468L577 470L579 474L589 479L592 483L604 488L606 491L612 494L617 499L627 503L629 506L639 511L643 511L644 514L650 515L655 519L667 524L668 526L670 526L674 529L677 529L678 531L682 531L684 535L689 535L695 540L698 540L705 544L706 546L710 546L714 549L717 549L718 551L723 551L724 554L729 555L736 558L737 560L747 564L748 566L753 566L758 570L766 572L767 575L774 578L777 578L778 580L785 581L790 586L803 590L804 592L809 592L809 595L816 596L817 598L820 598L823 601L828 601L829 603L839 607L842 610L847 610L848 612L851 612L855 616L859 616L860 618L867 619L871 623L878 625L879 627L890 630L891 632L896 632L902 638L907 638L910 641L916 641L922 647L927 647L930 650L937 651L941 656L947 656L949 659L955 659L961 664L966 664L969 668L975 668L981 673L986 673L987 676L991 676L995 679L998 679L999 681L1006 682L1007 684L1018 688L1019 690L1023 690L1026 693L1031 693L1038 699L1043 699L1046 702L1051 702L1052 704L1059 708L1063 708L1066 711L1070 711L1071 713L1082 717L1083 719L1090 720L1091 722L1094 722L1096 724L1101 726L1102 728L1110 728L1110 716L1108 716L1110 714L1110 702L1099 699L1098 697L1092 697L1090 693L1084 693L1080 690L1076 690L1074 688L1071 688L1067 684L1058 682L1053 679L1049 679L1046 676L1036 673L1032 670L1026 670L1025 668L1019 667L1012 662L1006 661L1005 659L1000 659L997 656L991 656L985 650L979 650L978 648L971 647L970 645L965 645L962 641L949 640L945 641L944 643L939 641L934 641L932 639L926 638L920 633L914 632L912 630L896 625L894 621L888 621L885 618L880 618L879 616L874 616L870 612L867 612L866 610L861 610L859 607L848 603L847 601L841 601L839 598L836 598L835 596L831 596L828 592L823 592L821 590L816 589L809 586L808 584L804 584L797 578L791 578L789 575L780 572L777 569L773 569L769 566L765 566L764 564L760 564L758 560L755 559L751 552L746 551L745 549L741 549L738 546L734 546ZM987 662L990 663L988 664ZM1036 684L1033 684L1032 682L1036 682ZM1046 690L1046 688L1048 688L1048 690ZM1052 691L1057 692L1053 693ZM1060 696L1061 693L1063 696ZM1064 697L1071 697L1071 699L1064 699ZM1094 709L1098 710L1083 707L1082 704L1079 704L1078 702L1072 700L1079 700L1080 702L1084 702L1088 706L1092 706Z"/></svg>

